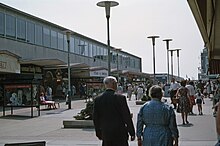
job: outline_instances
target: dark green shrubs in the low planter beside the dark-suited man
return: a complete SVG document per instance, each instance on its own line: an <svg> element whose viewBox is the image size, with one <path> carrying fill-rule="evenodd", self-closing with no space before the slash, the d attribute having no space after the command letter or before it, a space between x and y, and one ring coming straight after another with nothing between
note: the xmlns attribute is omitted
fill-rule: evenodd
<svg viewBox="0 0 220 146"><path fill-rule="evenodd" d="M86 108L82 109L80 113L73 117L76 120L92 120L93 104L93 101L88 101L88 103L86 104Z"/></svg>

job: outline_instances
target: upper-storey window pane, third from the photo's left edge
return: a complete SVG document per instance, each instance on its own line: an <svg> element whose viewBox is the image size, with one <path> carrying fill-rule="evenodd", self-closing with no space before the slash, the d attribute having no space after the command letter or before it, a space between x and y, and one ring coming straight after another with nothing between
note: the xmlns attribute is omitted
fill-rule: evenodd
<svg viewBox="0 0 220 146"><path fill-rule="evenodd" d="M17 19L17 38L25 40L26 38L26 22L22 19Z"/></svg>

